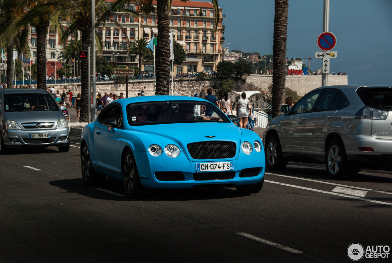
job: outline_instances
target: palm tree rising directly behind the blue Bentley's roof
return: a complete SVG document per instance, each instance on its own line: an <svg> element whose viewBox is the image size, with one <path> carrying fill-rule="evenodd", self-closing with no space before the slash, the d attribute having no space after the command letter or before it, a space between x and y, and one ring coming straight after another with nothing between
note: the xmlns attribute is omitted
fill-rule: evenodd
<svg viewBox="0 0 392 263"><path fill-rule="evenodd" d="M181 0L186 2L186 0ZM112 8L118 8L127 4L129 0L117 0L112 5ZM153 3L151 0L136 0L141 7L140 10L144 14L149 14L153 10ZM156 72L156 86L155 95L168 95L169 94L169 75L170 75L170 43L169 43L169 26L170 17L169 10L171 7L172 0L156 0L156 9L158 16L158 37L157 46L155 47L155 72ZM220 22L220 15L218 9L218 0L211 0L214 6L215 22L214 31L218 29L218 24Z"/></svg>

